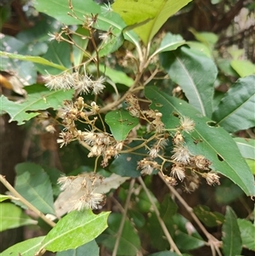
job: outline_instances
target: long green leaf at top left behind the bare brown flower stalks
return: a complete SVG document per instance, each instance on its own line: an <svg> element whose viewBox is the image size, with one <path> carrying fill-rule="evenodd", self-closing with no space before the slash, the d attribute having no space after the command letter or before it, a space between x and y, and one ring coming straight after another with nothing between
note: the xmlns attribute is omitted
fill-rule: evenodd
<svg viewBox="0 0 255 256"><path fill-rule="evenodd" d="M67 14L71 13L67 1L54 0L45 2L44 0L37 0L35 8L37 11L48 14L65 25L82 25L86 20L86 17L91 18L91 14L98 14L94 27L102 31L109 31L110 28L114 29L113 31L115 36L119 35L127 26L119 14L107 11L105 9L105 5L100 6L93 0L86 0L86 2L83 0L72 0L71 4L73 6L74 13L79 19L75 19L71 17L71 15ZM56 10L58 11L56 12ZM138 37L132 31L126 31L125 38L136 45L139 44Z"/></svg>

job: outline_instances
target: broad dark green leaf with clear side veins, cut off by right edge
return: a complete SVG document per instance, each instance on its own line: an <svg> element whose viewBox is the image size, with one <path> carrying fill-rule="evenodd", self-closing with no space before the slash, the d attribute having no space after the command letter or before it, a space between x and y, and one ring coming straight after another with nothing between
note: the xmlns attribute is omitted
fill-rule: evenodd
<svg viewBox="0 0 255 256"><path fill-rule="evenodd" d="M254 84L255 76L238 79L212 113L212 119L231 133L254 127Z"/></svg>

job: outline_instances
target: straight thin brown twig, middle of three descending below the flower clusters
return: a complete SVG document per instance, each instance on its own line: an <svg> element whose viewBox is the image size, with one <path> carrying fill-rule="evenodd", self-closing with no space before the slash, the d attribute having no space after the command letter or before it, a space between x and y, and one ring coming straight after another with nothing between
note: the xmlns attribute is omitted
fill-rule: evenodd
<svg viewBox="0 0 255 256"><path fill-rule="evenodd" d="M148 196L148 198L150 200L150 203L151 203L151 205L152 205L152 207L153 207L153 209L154 209L154 211L156 213L156 218L158 219L158 221L159 221L159 223L161 225L161 228L162 228L165 236L167 237L167 241L169 242L171 249L173 251L175 251L178 255L182 255L182 253L178 250L178 247L176 246L175 242L173 242L173 238L169 234L169 232L167 230L167 226L165 225L164 221L161 219L161 214L160 214L159 210L156 208L156 204L153 201L153 199L151 198L150 192L148 191L146 185L144 184L144 180L141 177L139 177L138 180L139 180L139 183L142 185L146 195Z"/></svg>

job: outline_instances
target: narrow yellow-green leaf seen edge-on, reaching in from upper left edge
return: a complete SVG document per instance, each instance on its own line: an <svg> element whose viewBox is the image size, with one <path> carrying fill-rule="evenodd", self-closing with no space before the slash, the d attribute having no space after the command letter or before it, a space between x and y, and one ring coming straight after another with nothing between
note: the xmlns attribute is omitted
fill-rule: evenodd
<svg viewBox="0 0 255 256"><path fill-rule="evenodd" d="M51 61L45 60L42 57L29 56L29 55L21 55L21 54L9 54L9 53L2 52L2 51L0 51L0 56L8 57L8 58L14 59L14 60L31 61L33 63L39 63L39 64L42 64L42 65L48 65L48 66L52 66L54 68L57 68L57 69L59 69L61 71L65 71L66 70L65 66L55 64L55 63L53 63Z"/></svg>

